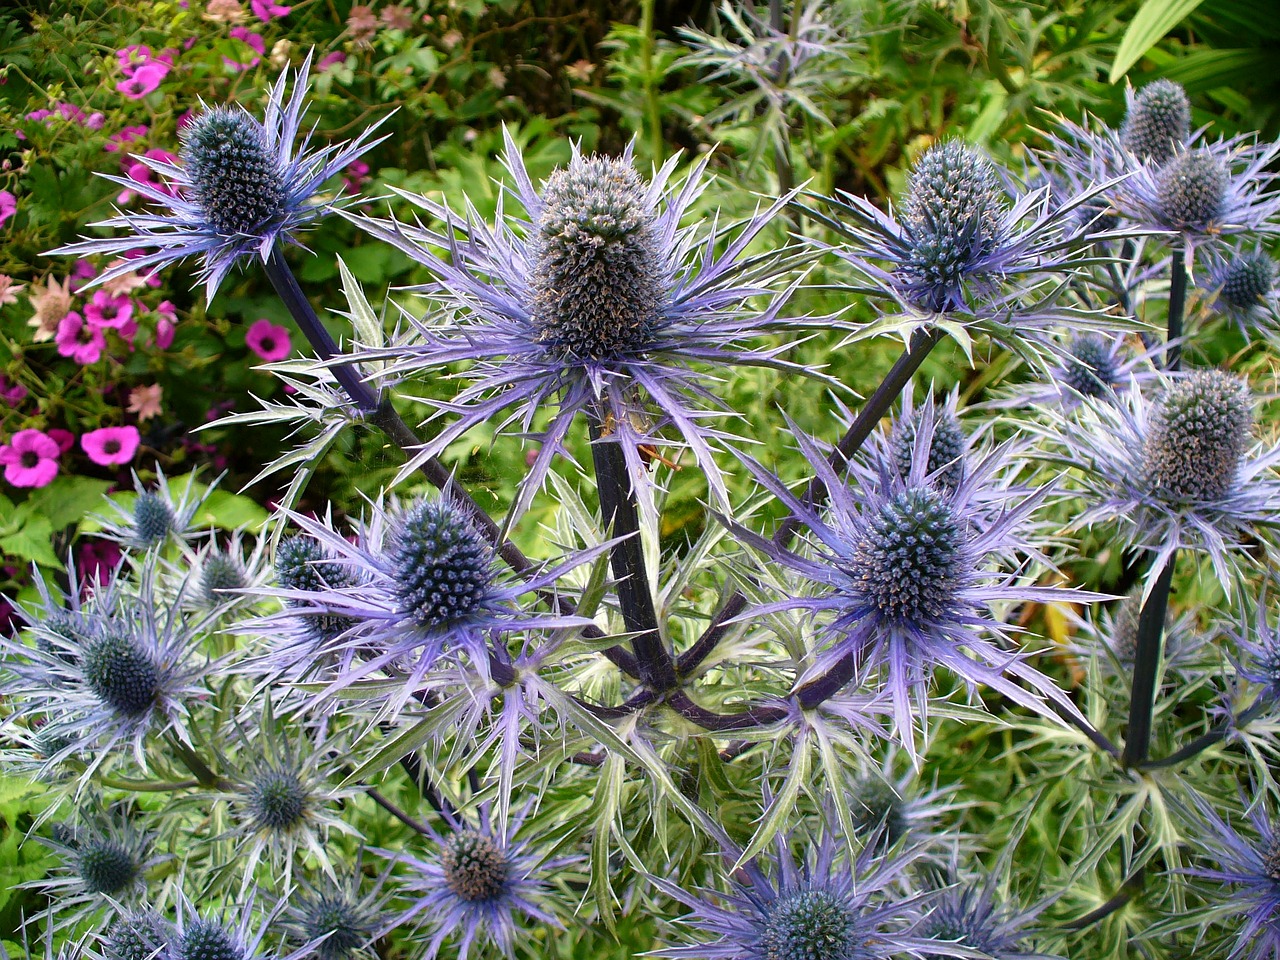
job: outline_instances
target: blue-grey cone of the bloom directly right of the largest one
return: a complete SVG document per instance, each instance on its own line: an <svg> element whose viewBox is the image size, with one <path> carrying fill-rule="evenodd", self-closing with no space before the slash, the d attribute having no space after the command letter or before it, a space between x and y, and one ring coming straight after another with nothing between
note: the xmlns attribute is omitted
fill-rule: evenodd
<svg viewBox="0 0 1280 960"><path fill-rule="evenodd" d="M996 248L1006 209L996 168L974 147L948 141L916 161L902 200L911 239L904 270L925 306L943 310L968 269Z"/></svg>

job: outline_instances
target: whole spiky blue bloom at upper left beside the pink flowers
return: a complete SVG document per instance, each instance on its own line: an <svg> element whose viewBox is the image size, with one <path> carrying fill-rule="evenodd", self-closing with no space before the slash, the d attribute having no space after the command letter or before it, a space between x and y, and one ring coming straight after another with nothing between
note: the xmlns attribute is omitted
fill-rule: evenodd
<svg viewBox="0 0 1280 960"><path fill-rule="evenodd" d="M93 283L151 268L159 270L189 256L202 259L200 275L209 300L238 261L266 260L279 242L296 242L312 220L352 202L351 197L317 197L320 187L385 137L372 134L379 120L349 143L310 148L302 132L308 54L294 74L285 102L288 72L271 87L266 116L259 122L242 108L215 106L196 116L182 133L178 164L136 157L163 178L143 183L106 177L151 201L143 212L118 212L92 224L118 232L82 239L51 251L67 256L120 256L148 252L104 270ZM385 119L385 118L384 118Z"/></svg>

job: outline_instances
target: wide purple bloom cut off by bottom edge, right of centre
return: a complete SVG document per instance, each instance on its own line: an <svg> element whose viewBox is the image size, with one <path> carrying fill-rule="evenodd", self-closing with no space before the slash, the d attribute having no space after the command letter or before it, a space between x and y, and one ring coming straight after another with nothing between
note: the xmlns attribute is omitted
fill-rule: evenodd
<svg viewBox="0 0 1280 960"><path fill-rule="evenodd" d="M879 960L952 954L951 945L906 928L919 900L901 892L913 852L882 856L878 847L868 846L850 861L824 831L812 859L797 863L792 840L778 836L772 864L762 864L759 858L744 864L730 893L695 893L650 878L692 911L681 925L714 937L655 954L689 960ZM844 844L838 846L844 849Z"/></svg>

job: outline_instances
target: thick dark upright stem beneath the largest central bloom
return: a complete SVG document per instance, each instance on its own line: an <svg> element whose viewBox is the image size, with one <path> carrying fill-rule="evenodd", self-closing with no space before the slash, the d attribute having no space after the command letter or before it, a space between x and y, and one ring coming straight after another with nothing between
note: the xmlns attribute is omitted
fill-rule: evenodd
<svg viewBox="0 0 1280 960"><path fill-rule="evenodd" d="M617 443L604 436L603 426L591 419L591 462L600 494L600 520L609 535L621 538L609 552L609 566L618 582L618 605L640 668L640 681L653 690L677 685L676 667L658 631L658 613L649 591L640 543L640 516L636 509L626 457Z"/></svg>

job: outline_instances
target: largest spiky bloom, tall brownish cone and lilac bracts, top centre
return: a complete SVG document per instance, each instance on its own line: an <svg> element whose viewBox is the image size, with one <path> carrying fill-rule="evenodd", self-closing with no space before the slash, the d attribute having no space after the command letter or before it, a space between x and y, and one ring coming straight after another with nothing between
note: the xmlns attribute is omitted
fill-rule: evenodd
<svg viewBox="0 0 1280 960"><path fill-rule="evenodd" d="M351 215L355 223L428 266L435 282L419 288L443 308L410 317L413 342L380 351L388 375L422 372L468 361L470 384L436 416L453 420L419 448L404 471L436 456L477 424L517 422L541 443L521 483L515 515L543 484L552 458L563 453L573 419L590 413L602 442L620 443L632 477L646 467L639 445L663 444L673 428L727 497L709 439L722 434L709 420L724 416L708 384L726 365L785 367L785 347L751 340L781 326L786 294L769 288L795 264L773 251L746 248L787 198L754 215L737 233L713 221L708 230L681 227L705 188L707 159L678 188L668 187L676 160L645 182L628 147L621 157L584 156L534 187L520 147L506 134L508 188L529 219L507 215L495 225L463 218L424 197L402 193L447 225L444 232L396 220ZM435 250L449 251L448 259ZM763 308L750 301L760 297ZM795 328L797 320L786 325ZM535 430L539 415L550 422ZM639 490L652 508L648 485Z"/></svg>

